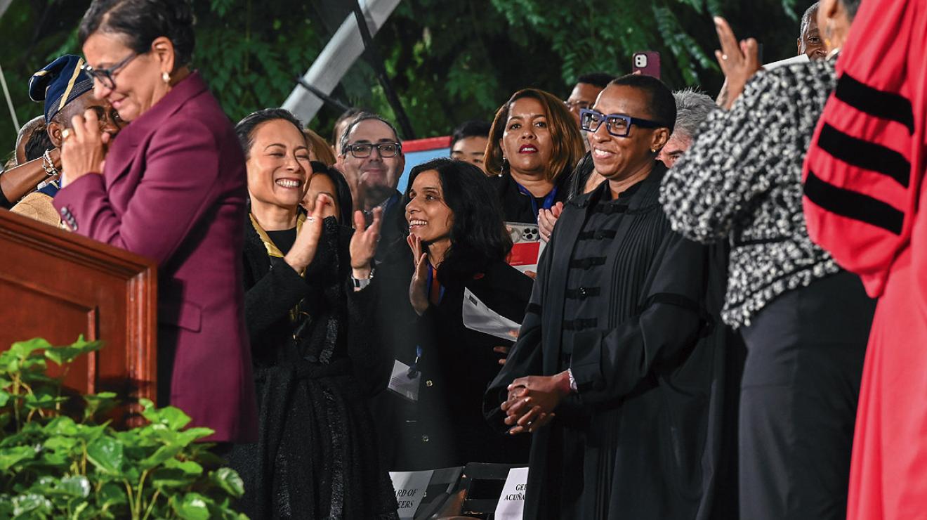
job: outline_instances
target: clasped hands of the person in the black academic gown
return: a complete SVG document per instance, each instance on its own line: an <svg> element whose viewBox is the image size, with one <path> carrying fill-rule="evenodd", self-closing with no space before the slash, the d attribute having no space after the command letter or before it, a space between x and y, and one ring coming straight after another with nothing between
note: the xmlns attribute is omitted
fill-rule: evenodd
<svg viewBox="0 0 927 520"><path fill-rule="evenodd" d="M534 433L553 420L557 406L570 393L569 374L528 375L508 387L508 398L500 407L510 435Z"/></svg>

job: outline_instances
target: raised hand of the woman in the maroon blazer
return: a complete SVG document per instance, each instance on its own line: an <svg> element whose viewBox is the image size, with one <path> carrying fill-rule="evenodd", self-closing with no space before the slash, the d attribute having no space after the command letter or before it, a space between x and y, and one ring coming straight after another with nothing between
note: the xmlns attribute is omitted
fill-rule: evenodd
<svg viewBox="0 0 927 520"><path fill-rule="evenodd" d="M109 134L100 132L96 112L87 109L83 116L70 118L61 140L61 185L73 183L87 173L103 173Z"/></svg>

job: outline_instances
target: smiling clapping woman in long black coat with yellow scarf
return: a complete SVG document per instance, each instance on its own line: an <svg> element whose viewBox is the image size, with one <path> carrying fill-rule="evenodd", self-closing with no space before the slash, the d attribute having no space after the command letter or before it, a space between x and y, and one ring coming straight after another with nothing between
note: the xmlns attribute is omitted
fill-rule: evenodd
<svg viewBox="0 0 927 520"><path fill-rule="evenodd" d="M300 129L282 109L236 127L248 154L245 318L260 413L258 443L228 453L245 482L237 507L252 518L396 518L366 406L389 374L368 320L379 219L352 234L324 194L311 216L298 211L311 171Z"/></svg>

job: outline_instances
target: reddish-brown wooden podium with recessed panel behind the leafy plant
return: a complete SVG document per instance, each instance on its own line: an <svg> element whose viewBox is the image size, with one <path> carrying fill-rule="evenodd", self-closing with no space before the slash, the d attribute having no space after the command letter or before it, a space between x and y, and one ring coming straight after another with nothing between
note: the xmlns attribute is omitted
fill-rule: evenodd
<svg viewBox="0 0 927 520"><path fill-rule="evenodd" d="M157 275L154 260L0 209L0 350L37 336L102 339L65 385L156 401Z"/></svg>

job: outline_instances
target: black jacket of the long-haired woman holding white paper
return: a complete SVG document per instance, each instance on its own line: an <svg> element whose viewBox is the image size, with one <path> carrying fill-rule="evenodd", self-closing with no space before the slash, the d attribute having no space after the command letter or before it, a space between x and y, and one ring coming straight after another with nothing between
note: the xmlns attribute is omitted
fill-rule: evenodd
<svg viewBox="0 0 927 520"><path fill-rule="evenodd" d="M418 317L409 303L412 261L403 260L380 273L385 283L380 314L388 320L387 326L381 323L380 337L389 338L396 358L410 365L421 347L421 376L417 403L389 393L375 410L378 422L387 423L383 429L389 434L380 440L388 468L527 463L528 436L499 433L482 414L483 394L501 368L502 355L493 348L512 341L467 329L461 312L466 287L493 311L521 323L532 280L500 260L472 279L446 283L440 303Z"/></svg>

